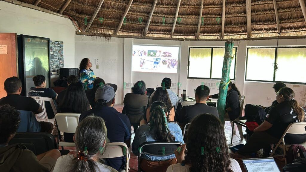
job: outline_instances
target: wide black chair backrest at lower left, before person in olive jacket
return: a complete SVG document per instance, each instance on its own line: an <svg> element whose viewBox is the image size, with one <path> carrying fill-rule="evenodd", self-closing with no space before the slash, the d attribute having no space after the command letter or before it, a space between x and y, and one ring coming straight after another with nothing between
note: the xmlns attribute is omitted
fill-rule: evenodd
<svg viewBox="0 0 306 172"><path fill-rule="evenodd" d="M16 133L9 142L12 144L23 144L35 155L58 148L54 136L49 133Z"/></svg>

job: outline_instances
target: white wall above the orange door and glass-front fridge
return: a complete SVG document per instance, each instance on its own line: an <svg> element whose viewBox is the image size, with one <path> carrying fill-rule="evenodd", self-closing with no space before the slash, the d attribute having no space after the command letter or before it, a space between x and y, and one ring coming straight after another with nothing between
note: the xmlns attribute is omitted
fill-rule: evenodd
<svg viewBox="0 0 306 172"><path fill-rule="evenodd" d="M76 29L64 17L0 1L0 33L17 33L64 41L64 67L74 68ZM53 84L52 80L51 83Z"/></svg>

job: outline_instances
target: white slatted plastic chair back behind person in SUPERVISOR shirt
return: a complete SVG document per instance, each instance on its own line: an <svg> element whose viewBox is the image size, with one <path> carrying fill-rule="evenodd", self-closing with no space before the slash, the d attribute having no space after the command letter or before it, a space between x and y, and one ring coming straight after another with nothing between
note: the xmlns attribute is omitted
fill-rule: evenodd
<svg viewBox="0 0 306 172"><path fill-rule="evenodd" d="M35 99L35 101L43 108L43 112L36 114L36 119L47 120L54 118L57 111L52 98L38 96L34 96L32 98Z"/></svg>

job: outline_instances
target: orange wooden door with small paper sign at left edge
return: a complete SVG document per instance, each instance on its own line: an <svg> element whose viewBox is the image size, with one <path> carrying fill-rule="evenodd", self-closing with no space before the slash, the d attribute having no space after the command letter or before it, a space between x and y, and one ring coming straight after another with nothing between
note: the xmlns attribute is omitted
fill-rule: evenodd
<svg viewBox="0 0 306 172"><path fill-rule="evenodd" d="M4 81L17 77L17 34L0 33L0 98L6 96Z"/></svg>

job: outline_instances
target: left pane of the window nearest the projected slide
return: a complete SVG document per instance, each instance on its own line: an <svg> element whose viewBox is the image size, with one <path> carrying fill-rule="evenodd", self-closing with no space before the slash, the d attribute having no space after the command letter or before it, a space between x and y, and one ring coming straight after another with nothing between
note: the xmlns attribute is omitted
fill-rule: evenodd
<svg viewBox="0 0 306 172"><path fill-rule="evenodd" d="M211 48L189 49L188 77L210 78Z"/></svg>

